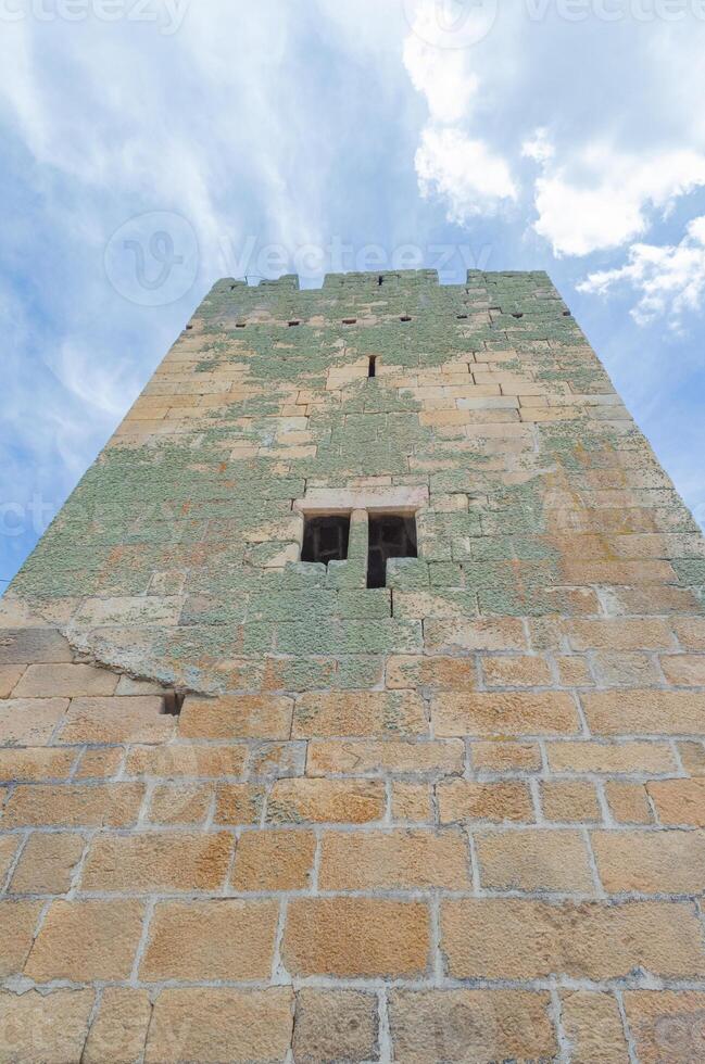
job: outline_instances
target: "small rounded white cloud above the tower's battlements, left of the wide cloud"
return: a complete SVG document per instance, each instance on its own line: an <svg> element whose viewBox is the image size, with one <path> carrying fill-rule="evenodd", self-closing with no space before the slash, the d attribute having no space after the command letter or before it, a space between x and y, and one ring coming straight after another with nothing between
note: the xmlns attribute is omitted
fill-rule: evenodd
<svg viewBox="0 0 705 1064"><path fill-rule="evenodd" d="M504 160L459 129L431 126L424 130L416 172L421 195L436 193L444 199L450 221L467 221L517 198Z"/></svg>

